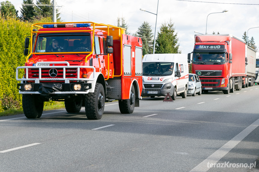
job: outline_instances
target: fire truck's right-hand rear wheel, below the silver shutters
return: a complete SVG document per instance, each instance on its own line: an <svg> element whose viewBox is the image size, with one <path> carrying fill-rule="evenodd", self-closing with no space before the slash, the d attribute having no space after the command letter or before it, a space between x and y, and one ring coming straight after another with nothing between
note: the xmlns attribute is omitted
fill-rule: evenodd
<svg viewBox="0 0 259 172"><path fill-rule="evenodd" d="M119 109L121 113L133 113L135 108L135 89L131 86L130 98L126 100L119 100Z"/></svg>

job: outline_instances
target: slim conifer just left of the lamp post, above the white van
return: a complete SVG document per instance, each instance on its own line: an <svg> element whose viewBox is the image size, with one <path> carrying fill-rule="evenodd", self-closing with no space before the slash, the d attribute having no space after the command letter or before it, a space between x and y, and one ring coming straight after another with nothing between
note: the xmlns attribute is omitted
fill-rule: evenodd
<svg viewBox="0 0 259 172"><path fill-rule="evenodd" d="M151 26L148 22L142 23L142 25L138 28L137 36L142 39L142 50L143 56L145 54L152 54L153 52L153 34Z"/></svg>

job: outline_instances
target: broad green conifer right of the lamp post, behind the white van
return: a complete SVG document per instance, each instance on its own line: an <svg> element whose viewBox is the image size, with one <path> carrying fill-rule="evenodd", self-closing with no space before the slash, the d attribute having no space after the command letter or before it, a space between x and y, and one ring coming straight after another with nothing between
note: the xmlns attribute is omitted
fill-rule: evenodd
<svg viewBox="0 0 259 172"><path fill-rule="evenodd" d="M156 39L155 53L181 53L179 50L178 40L179 39L177 37L177 33L175 33L175 27L172 19L170 19L167 23L162 23Z"/></svg>

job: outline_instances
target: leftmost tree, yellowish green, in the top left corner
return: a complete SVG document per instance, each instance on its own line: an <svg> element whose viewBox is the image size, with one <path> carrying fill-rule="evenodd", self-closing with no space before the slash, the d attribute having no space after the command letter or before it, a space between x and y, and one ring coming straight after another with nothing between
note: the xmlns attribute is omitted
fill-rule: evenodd
<svg viewBox="0 0 259 172"><path fill-rule="evenodd" d="M1 2L1 16L6 18L7 16L10 17L18 17L18 10L15 9L14 5L9 1Z"/></svg>

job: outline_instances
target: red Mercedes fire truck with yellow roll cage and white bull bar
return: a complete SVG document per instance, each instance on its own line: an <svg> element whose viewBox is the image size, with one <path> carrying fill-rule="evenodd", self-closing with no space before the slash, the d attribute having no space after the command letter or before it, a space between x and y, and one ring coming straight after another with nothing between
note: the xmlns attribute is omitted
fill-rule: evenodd
<svg viewBox="0 0 259 172"><path fill-rule="evenodd" d="M88 119L101 119L105 101L119 100L121 113L139 106L142 40L125 35L124 28L36 23L24 46L24 55L29 55L25 66L17 67L16 78L27 118L40 118L49 100L65 101L70 113L85 106Z"/></svg>

